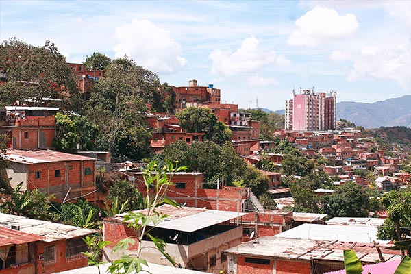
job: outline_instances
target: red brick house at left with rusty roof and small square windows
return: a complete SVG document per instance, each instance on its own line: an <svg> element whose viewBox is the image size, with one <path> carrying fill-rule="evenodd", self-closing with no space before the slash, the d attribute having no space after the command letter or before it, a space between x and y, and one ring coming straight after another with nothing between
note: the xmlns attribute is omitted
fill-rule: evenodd
<svg viewBox="0 0 411 274"><path fill-rule="evenodd" d="M95 200L95 158L52 150L21 151L10 149L5 153L10 184L21 190L38 189L53 195L55 201L70 201L84 197Z"/></svg>

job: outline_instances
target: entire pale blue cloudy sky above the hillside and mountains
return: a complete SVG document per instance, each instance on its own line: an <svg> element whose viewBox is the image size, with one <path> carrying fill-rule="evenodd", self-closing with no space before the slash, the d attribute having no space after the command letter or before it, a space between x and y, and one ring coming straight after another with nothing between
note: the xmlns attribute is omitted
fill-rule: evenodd
<svg viewBox="0 0 411 274"><path fill-rule="evenodd" d="M411 94L411 1L8 1L0 40L51 40L68 62L127 54L161 82L279 110L315 87L337 101Z"/></svg>

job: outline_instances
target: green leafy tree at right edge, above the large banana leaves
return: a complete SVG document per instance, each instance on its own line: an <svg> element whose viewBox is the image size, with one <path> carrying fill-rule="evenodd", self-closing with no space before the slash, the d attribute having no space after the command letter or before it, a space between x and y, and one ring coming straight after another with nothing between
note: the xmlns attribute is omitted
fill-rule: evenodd
<svg viewBox="0 0 411 274"><path fill-rule="evenodd" d="M382 205L388 218L378 228L378 238L383 240L403 240L411 233L411 188L392 190L383 195Z"/></svg>

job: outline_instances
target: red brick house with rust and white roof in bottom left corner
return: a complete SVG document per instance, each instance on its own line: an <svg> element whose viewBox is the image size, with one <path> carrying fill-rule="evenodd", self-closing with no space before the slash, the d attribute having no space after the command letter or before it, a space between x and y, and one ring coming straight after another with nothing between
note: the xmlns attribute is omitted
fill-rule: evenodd
<svg viewBox="0 0 411 274"><path fill-rule="evenodd" d="M0 273L49 274L87 266L82 237L95 232L0 213L0 262L5 258Z"/></svg>

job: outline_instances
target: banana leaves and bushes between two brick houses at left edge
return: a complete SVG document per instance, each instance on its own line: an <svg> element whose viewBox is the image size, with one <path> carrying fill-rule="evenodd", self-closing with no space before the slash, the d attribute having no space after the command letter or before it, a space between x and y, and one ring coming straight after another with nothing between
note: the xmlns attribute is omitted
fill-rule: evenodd
<svg viewBox="0 0 411 274"><path fill-rule="evenodd" d="M21 191L22 186L23 182L16 186L11 195L1 198L0 211L32 219L55 221L57 216L49 212L51 196L36 189Z"/></svg>

